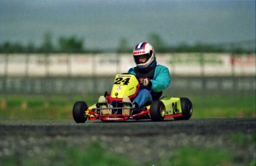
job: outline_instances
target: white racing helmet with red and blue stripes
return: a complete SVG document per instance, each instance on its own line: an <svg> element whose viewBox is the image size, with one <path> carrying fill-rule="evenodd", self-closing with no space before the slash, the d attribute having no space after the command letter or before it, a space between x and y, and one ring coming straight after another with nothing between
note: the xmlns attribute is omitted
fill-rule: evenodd
<svg viewBox="0 0 256 166"><path fill-rule="evenodd" d="M154 48L147 42L142 42L134 47L134 61L139 69L148 67L155 59Z"/></svg>

